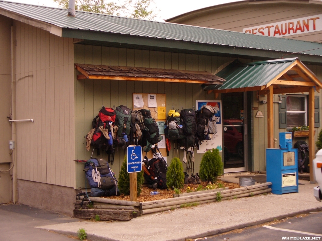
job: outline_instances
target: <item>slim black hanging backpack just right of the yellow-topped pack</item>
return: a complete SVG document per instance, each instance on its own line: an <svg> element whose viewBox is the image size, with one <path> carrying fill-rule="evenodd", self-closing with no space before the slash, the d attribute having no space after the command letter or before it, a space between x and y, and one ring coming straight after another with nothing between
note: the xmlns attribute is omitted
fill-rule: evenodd
<svg viewBox="0 0 322 241"><path fill-rule="evenodd" d="M199 146L199 139L196 137L196 113L193 109L184 109L180 112L180 119L182 124L185 139L181 142L186 149L193 147L194 144Z"/></svg>

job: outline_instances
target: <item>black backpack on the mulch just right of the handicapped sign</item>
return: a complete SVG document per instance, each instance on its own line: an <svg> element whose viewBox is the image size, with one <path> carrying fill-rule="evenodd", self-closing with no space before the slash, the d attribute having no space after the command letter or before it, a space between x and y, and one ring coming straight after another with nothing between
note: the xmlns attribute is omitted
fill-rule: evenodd
<svg viewBox="0 0 322 241"><path fill-rule="evenodd" d="M149 160L148 166L142 166L144 177L149 185L158 184L158 188L166 189L166 172L168 166L161 158L152 158ZM156 179L155 179L156 178Z"/></svg>

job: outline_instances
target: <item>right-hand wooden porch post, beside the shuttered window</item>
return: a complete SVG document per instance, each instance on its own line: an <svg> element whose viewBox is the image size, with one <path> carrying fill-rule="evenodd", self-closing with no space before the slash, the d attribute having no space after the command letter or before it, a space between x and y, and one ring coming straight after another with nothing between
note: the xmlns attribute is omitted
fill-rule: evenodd
<svg viewBox="0 0 322 241"><path fill-rule="evenodd" d="M309 101L308 101L308 148L310 152L310 181L311 183L314 182L314 177L313 177L313 159L315 156L315 143L314 143L314 87L310 88L309 91Z"/></svg>

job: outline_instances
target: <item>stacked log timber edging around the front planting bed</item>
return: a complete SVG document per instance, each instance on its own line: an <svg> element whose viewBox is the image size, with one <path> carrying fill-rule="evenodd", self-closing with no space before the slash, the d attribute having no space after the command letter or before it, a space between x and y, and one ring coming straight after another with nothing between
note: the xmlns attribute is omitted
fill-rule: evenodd
<svg viewBox="0 0 322 241"><path fill-rule="evenodd" d="M95 215L99 215L100 220L130 220L137 217L139 214L180 208L183 204L214 202L217 201L217 192L220 192L222 200L267 193L271 191L269 188L269 185L271 184L272 183L267 182L234 189L220 188L182 193L177 194L178 197L146 202L90 197L90 201L93 203L94 208L89 208L89 201L84 201L82 207L80 206L80 201L78 201L75 203L74 217L91 219L95 218Z"/></svg>

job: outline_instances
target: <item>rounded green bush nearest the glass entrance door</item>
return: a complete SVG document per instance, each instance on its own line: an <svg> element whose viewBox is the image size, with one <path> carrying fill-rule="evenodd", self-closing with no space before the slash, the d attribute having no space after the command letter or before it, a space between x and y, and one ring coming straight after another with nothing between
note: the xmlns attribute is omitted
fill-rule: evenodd
<svg viewBox="0 0 322 241"><path fill-rule="evenodd" d="M199 175L201 180L214 182L223 174L223 162L218 149L207 151L201 159Z"/></svg>

